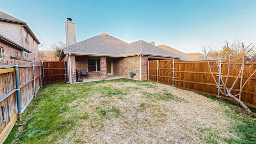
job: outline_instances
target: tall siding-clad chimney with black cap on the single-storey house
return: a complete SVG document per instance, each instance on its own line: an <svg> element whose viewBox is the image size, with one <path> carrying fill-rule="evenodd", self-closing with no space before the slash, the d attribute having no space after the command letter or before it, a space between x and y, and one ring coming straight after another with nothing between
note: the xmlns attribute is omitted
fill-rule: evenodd
<svg viewBox="0 0 256 144"><path fill-rule="evenodd" d="M76 24L72 22L71 18L65 22L66 28L66 46L76 43Z"/></svg>

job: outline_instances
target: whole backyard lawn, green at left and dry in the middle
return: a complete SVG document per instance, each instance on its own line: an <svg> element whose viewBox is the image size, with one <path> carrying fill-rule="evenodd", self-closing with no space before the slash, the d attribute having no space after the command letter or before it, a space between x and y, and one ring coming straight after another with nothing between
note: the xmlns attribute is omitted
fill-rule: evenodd
<svg viewBox="0 0 256 144"><path fill-rule="evenodd" d="M44 84L5 143L256 144L256 119L239 109L148 81Z"/></svg>

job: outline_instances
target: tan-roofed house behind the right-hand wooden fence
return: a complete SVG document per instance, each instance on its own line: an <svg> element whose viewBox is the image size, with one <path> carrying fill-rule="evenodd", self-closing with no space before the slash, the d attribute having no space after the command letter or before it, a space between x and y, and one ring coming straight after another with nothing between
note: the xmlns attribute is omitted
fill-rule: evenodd
<svg viewBox="0 0 256 144"><path fill-rule="evenodd" d="M204 54L199 53L199 52L186 54L184 52L176 50L175 48L172 48L170 46L166 46L166 45L163 45L163 44L159 45L158 47L180 56L180 61L202 61L202 60L206 60L206 56ZM210 57L208 57L208 59L209 60L214 60L213 58L210 58Z"/></svg>

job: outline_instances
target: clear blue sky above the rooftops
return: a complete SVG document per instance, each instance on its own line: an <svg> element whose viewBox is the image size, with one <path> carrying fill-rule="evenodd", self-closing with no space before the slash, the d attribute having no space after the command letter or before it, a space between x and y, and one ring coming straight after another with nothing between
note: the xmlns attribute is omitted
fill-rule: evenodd
<svg viewBox="0 0 256 144"><path fill-rule="evenodd" d="M224 40L256 43L256 1L12 1L0 10L25 21L44 44L65 40L65 21L76 23L76 42L104 32L125 42L154 40L185 53Z"/></svg>

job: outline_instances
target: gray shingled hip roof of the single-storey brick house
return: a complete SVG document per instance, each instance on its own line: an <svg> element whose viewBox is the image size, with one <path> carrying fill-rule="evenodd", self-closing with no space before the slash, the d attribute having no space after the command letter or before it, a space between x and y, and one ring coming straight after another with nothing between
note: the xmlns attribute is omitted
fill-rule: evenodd
<svg viewBox="0 0 256 144"><path fill-rule="evenodd" d="M78 42L64 48L65 54L80 54L91 56L113 56L127 57L138 54L148 56L161 56L166 58L180 58L180 56L158 48L143 40L138 40L130 44L119 40L109 34L103 33L82 42Z"/></svg>

